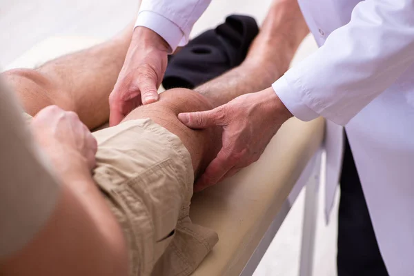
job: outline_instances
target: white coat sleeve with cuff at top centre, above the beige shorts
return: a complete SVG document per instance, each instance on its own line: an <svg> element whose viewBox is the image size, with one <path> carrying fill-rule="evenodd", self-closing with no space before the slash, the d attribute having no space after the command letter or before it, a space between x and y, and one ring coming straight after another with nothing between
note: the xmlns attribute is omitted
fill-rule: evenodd
<svg viewBox="0 0 414 276"><path fill-rule="evenodd" d="M211 0L142 0L135 27L144 26L157 32L170 45L188 43L191 29Z"/></svg>

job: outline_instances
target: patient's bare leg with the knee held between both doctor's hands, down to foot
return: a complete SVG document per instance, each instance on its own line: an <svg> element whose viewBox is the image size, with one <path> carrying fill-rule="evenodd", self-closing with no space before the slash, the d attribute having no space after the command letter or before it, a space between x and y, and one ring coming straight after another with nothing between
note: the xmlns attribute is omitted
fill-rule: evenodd
<svg viewBox="0 0 414 276"><path fill-rule="evenodd" d="M270 7L264 24L242 65L208 81L195 91L184 88L167 90L161 93L157 103L140 106L125 120L150 118L177 135L190 152L197 177L221 148L221 128L192 130L184 126L177 115L181 112L210 110L240 95L263 90L283 75L308 30L303 18L296 19L290 16L285 20L284 14L291 14L291 12L281 3L281 1L274 1ZM302 17L302 14L298 16ZM305 26L299 26L297 21L303 21ZM281 23L284 28L280 27ZM286 40L288 34L283 32L289 30L290 25L292 28L297 28L298 32L289 37L289 43L281 43L281 39Z"/></svg>

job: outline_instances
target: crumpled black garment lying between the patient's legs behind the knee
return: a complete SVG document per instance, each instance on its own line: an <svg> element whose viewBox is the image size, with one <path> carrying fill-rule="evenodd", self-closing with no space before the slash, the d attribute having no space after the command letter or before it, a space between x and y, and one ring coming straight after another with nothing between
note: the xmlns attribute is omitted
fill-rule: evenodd
<svg viewBox="0 0 414 276"><path fill-rule="evenodd" d="M252 17L230 15L225 23L200 34L170 57L162 85L193 89L222 75L244 61L258 33Z"/></svg>

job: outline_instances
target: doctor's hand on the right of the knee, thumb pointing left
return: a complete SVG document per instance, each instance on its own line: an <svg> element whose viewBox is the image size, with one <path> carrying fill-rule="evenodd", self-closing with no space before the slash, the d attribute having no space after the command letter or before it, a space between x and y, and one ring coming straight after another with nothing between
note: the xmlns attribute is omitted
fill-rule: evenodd
<svg viewBox="0 0 414 276"><path fill-rule="evenodd" d="M247 94L204 112L180 113L189 128L223 128L222 148L195 184L203 190L257 161L270 139L292 117L273 88Z"/></svg>

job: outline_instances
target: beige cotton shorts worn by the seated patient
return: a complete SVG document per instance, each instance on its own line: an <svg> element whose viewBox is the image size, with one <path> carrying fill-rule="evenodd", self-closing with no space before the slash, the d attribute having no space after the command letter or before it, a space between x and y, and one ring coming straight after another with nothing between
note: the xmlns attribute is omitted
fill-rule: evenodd
<svg viewBox="0 0 414 276"><path fill-rule="evenodd" d="M130 275L193 273L218 237L188 217L194 176L181 140L150 119L93 135L98 141L93 178L124 231Z"/></svg>

